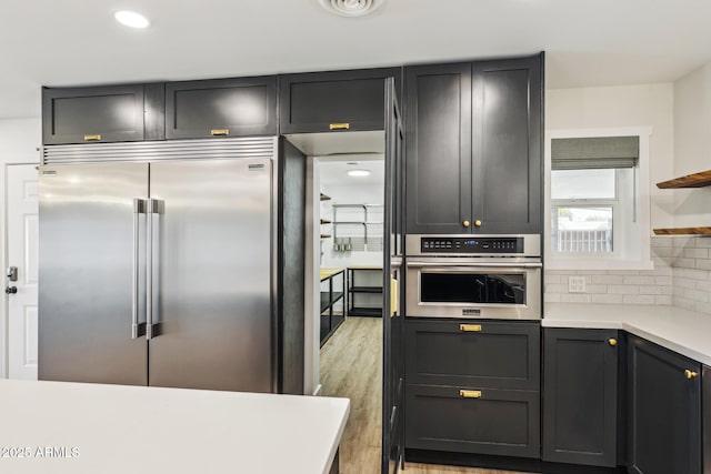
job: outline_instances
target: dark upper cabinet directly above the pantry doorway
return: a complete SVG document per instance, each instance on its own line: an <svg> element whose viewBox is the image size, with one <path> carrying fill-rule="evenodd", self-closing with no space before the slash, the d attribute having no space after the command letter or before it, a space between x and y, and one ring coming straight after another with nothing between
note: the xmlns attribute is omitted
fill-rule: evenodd
<svg viewBox="0 0 711 474"><path fill-rule="evenodd" d="M310 72L280 77L280 132L383 130L385 78L400 68Z"/></svg>

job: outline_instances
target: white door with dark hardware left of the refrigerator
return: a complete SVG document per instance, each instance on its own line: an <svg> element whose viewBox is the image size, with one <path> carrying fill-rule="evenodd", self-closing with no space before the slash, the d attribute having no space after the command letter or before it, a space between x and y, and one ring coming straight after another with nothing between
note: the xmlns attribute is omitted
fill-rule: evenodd
<svg viewBox="0 0 711 474"><path fill-rule="evenodd" d="M38 171L34 164L10 164L7 173L8 369L10 379L37 379ZM6 269L9 270L9 269Z"/></svg>

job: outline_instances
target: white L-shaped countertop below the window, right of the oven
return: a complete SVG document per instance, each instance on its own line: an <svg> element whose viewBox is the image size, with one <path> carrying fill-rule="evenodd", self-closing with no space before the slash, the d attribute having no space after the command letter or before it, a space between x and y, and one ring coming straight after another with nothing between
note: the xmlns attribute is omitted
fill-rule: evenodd
<svg viewBox="0 0 711 474"><path fill-rule="evenodd" d="M541 325L620 329L711 365L711 314L675 306L545 303Z"/></svg>

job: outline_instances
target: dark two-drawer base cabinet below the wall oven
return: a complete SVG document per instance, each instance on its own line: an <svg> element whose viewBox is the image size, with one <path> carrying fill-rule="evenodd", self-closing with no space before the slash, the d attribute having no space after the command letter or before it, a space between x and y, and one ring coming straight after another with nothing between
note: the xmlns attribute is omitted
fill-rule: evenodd
<svg viewBox="0 0 711 474"><path fill-rule="evenodd" d="M538 322L405 319L405 447L540 456Z"/></svg>

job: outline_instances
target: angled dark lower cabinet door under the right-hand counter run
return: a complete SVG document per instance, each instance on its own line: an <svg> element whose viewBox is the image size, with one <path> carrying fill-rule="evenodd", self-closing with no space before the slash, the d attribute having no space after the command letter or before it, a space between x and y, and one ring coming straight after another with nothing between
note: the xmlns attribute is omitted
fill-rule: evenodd
<svg viewBox="0 0 711 474"><path fill-rule="evenodd" d="M629 472L700 474L701 365L643 339L629 341Z"/></svg>

